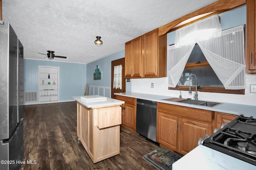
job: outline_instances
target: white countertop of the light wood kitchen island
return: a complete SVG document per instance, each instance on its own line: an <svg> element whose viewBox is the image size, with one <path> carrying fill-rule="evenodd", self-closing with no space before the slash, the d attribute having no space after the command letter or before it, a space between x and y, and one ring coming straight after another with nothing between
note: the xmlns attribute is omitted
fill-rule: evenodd
<svg viewBox="0 0 256 170"><path fill-rule="evenodd" d="M95 108L95 107L105 107L105 106L113 106L113 105L121 105L124 104L121 100L116 100L112 98L107 98L106 101L97 101L95 102L86 102L86 100L81 99L81 96L73 96L73 99L78 101L79 103L83 104L88 108Z"/></svg>

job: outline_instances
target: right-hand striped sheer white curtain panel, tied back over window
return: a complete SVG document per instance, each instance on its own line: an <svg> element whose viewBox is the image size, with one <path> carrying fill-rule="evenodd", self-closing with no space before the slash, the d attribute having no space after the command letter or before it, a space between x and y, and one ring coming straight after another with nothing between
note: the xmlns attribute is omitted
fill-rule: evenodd
<svg viewBox="0 0 256 170"><path fill-rule="evenodd" d="M244 26L221 33L221 37L200 42L198 45L225 89L244 89Z"/></svg>

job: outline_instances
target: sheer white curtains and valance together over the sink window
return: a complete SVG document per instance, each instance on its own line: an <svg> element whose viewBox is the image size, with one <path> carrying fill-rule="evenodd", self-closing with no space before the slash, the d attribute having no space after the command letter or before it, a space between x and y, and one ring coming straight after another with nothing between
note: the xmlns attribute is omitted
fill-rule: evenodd
<svg viewBox="0 0 256 170"><path fill-rule="evenodd" d="M243 25L221 31L218 16L214 15L176 30L175 45L168 47L169 87L175 87L182 75L186 62L195 45L198 43L206 60L224 85L225 89L245 88L244 65L244 29ZM208 23L215 22L215 23ZM199 23L198 25L196 25ZM211 26L210 26L211 25ZM214 29L215 25L217 28ZM195 34L193 34L192 27ZM187 29L186 29L187 28ZM212 30L211 35L204 35L202 29ZM198 30L199 29L199 30ZM208 29L208 31L209 31ZM189 30L189 31L188 31ZM190 45L186 42L189 34ZM182 36L181 36L182 35ZM194 36L192 36L194 35ZM202 38L200 37L202 35ZM207 37L207 40L205 39ZM180 39L180 41L179 41ZM182 46L183 45L183 46ZM185 45L185 46L184 46ZM180 47L181 46L181 47Z"/></svg>

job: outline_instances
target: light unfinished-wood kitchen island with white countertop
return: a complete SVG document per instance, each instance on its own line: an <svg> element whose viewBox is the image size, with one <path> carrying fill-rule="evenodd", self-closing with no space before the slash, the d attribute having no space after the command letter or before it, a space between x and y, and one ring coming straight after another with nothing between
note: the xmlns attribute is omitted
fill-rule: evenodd
<svg viewBox="0 0 256 170"><path fill-rule="evenodd" d="M124 102L111 98L77 102L77 136L93 163L120 153L120 124Z"/></svg>

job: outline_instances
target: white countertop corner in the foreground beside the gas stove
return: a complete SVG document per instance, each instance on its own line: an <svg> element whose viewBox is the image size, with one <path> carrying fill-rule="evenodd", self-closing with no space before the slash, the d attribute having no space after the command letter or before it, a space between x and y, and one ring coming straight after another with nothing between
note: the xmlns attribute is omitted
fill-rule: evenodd
<svg viewBox="0 0 256 170"><path fill-rule="evenodd" d="M172 164L172 170L256 170L256 166L199 145Z"/></svg>

